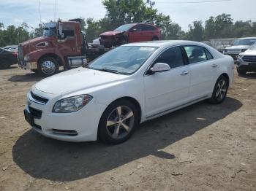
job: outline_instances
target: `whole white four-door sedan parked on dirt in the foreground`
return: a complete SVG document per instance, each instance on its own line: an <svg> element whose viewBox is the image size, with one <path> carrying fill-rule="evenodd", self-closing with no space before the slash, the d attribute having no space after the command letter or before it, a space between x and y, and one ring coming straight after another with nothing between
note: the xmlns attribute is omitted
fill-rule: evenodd
<svg viewBox="0 0 256 191"><path fill-rule="evenodd" d="M199 42L125 44L37 82L24 114L53 139L118 144L146 120L205 99L221 103L233 69L230 56Z"/></svg>

